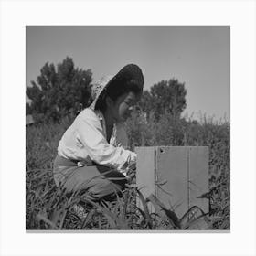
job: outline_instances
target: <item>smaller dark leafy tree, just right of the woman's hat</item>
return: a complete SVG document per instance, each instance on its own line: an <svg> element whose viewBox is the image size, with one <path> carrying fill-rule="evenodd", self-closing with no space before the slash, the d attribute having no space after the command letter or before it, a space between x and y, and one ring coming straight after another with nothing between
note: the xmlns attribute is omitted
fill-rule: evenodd
<svg viewBox="0 0 256 256"><path fill-rule="evenodd" d="M178 80L162 80L154 84L150 91L144 91L140 107L147 113L155 112L158 120L162 114L170 113L176 118L180 118L187 106L187 90L185 84Z"/></svg>

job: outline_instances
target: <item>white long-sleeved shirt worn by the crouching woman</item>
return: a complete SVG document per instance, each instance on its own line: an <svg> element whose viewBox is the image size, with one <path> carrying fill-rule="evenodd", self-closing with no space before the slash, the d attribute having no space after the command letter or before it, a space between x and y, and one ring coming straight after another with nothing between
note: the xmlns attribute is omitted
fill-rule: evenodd
<svg viewBox="0 0 256 256"><path fill-rule="evenodd" d="M101 112L84 109L59 141L58 154L80 160L78 165L107 165L125 173L136 162L136 154L127 150L128 138L123 124L113 127L110 144L106 140L105 120Z"/></svg>

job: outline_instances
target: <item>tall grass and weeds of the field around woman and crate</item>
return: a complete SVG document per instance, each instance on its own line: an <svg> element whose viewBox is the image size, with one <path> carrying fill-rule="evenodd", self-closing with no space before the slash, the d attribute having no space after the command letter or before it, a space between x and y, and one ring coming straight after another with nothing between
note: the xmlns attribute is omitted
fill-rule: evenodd
<svg viewBox="0 0 256 256"><path fill-rule="evenodd" d="M52 162L59 139L72 118L61 123L38 124L26 129L26 229L230 229L229 123L203 117L177 120L166 114L147 123L133 115L126 123L130 146L208 145L209 212L196 206L178 219L154 195L144 198L134 179L114 202L92 202L86 194L67 197L56 187ZM138 204L136 202L140 202ZM155 212L150 212L149 203ZM85 208L82 216L75 210Z"/></svg>

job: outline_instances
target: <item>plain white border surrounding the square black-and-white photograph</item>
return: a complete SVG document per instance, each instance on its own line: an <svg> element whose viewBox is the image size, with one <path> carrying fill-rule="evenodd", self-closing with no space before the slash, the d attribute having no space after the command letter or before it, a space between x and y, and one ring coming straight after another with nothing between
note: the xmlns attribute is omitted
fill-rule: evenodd
<svg viewBox="0 0 256 256"><path fill-rule="evenodd" d="M1 255L255 255L255 2L2 1ZM26 25L231 26L231 232L26 233Z"/></svg>

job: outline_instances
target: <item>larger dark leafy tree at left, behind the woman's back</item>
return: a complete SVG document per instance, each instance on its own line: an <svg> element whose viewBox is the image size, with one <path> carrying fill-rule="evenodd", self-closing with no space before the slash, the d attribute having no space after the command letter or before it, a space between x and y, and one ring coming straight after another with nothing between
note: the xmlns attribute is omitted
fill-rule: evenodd
<svg viewBox="0 0 256 256"><path fill-rule="evenodd" d="M63 116L88 106L91 98L91 69L74 67L69 57L57 65L48 62L40 70L37 82L27 87L34 118L43 113L43 121L59 121Z"/></svg>

